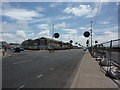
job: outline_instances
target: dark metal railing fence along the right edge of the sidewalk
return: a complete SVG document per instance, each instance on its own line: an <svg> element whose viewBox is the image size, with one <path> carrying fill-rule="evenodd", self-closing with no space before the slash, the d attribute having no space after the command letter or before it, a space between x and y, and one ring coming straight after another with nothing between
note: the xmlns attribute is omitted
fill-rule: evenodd
<svg viewBox="0 0 120 90"><path fill-rule="evenodd" d="M105 74L120 86L120 39L96 44L89 51Z"/></svg>

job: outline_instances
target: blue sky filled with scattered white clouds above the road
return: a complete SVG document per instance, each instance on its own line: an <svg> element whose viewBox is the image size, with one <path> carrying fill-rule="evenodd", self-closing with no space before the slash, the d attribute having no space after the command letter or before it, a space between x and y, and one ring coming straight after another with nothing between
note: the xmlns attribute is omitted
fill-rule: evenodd
<svg viewBox="0 0 120 90"><path fill-rule="evenodd" d="M57 40L85 45L88 38L83 33L90 30L90 21L95 24L93 42L118 38L116 2L3 2L1 8L1 34L7 42L51 38L54 24L54 32L60 34Z"/></svg>

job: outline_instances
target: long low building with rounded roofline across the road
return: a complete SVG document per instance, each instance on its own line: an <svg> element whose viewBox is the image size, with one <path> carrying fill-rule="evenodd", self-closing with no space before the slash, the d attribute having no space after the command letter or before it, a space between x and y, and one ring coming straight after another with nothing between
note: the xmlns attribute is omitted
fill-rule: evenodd
<svg viewBox="0 0 120 90"><path fill-rule="evenodd" d="M70 43L64 43L62 41L53 40L44 37L35 40L28 39L26 41L23 41L21 45L25 49L34 49L34 50L47 50L48 47L52 47L55 50L72 48L72 44Z"/></svg>

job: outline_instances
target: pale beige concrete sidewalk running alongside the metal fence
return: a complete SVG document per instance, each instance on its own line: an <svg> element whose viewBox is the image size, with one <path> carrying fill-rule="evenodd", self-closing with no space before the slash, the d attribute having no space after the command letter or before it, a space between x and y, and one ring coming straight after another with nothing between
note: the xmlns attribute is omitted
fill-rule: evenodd
<svg viewBox="0 0 120 90"><path fill-rule="evenodd" d="M118 88L118 86L105 76L97 61L87 51L81 60L71 88Z"/></svg>

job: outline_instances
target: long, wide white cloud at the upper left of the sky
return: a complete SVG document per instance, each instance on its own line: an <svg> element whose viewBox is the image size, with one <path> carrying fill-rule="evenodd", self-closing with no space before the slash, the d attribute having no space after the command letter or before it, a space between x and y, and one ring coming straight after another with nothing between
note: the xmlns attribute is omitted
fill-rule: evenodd
<svg viewBox="0 0 120 90"><path fill-rule="evenodd" d="M29 11L26 9L5 9L3 10L3 15L17 20L33 20L33 17L42 17L36 11Z"/></svg>

